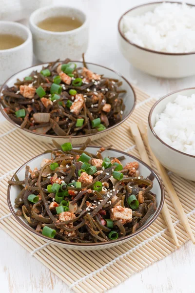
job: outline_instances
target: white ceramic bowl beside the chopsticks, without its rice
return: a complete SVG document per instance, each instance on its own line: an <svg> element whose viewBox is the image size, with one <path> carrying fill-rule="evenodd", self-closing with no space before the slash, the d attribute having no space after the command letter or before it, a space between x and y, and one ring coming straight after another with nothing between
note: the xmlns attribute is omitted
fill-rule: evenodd
<svg viewBox="0 0 195 293"><path fill-rule="evenodd" d="M167 103L173 102L178 94L190 97L194 93L195 88L187 88L162 97L153 105L148 117L148 141L156 158L167 169L183 178L193 181L195 181L195 156L167 145L157 136L154 131L154 126L156 124L156 114L162 113Z"/></svg>

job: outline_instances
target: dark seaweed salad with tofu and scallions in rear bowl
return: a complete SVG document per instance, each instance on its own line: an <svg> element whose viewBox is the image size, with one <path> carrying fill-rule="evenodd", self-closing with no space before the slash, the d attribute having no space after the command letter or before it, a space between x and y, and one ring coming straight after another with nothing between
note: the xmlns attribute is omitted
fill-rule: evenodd
<svg viewBox="0 0 195 293"><path fill-rule="evenodd" d="M122 120L121 84L90 71L83 56L83 67L69 59L57 61L5 86L0 102L21 128L47 135L87 135Z"/></svg>

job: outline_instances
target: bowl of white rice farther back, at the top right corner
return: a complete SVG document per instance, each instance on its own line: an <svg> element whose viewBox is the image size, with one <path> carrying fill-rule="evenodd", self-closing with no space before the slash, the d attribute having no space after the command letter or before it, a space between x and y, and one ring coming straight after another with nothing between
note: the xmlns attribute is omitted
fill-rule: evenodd
<svg viewBox="0 0 195 293"><path fill-rule="evenodd" d="M195 5L153 2L134 7L118 21L118 42L124 57L150 75L194 75Z"/></svg>

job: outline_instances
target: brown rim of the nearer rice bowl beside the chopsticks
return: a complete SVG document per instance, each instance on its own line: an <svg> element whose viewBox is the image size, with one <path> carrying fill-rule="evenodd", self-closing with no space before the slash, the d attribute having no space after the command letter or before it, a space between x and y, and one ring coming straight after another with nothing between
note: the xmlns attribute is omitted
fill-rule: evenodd
<svg viewBox="0 0 195 293"><path fill-rule="evenodd" d="M194 90L195 90L195 87L187 87L187 88L183 88L183 89L175 90L175 91L171 92L170 94L163 96L163 97L160 98L158 101L156 101L156 103L155 103L155 104L152 106L152 108L150 109L150 112L149 112L149 115L148 115L148 125L149 125L149 127L150 127L150 130L151 130L152 133L154 134L154 136L155 136L155 137L156 137L156 138L157 138L157 139L158 139L163 145L165 145L165 146L169 147L170 149L172 149L172 150L178 152L179 154L182 154L182 155L185 155L185 156L188 156L188 157L191 157L191 158L195 158L194 155L190 155L190 154L184 153L184 152L182 152L182 151L180 151L180 150L178 150L178 149L176 149L176 148L174 148L174 147L172 147L172 146L169 146L169 145L166 144L163 140L161 140L161 138L159 138L159 136L156 134L156 132L155 132L153 126L152 126L152 121L151 121L151 120L152 120L153 111L154 111L156 105L158 105L162 100L168 98L169 96L171 96L171 95L173 95L173 94L179 93L179 92L184 91L184 90L191 90L191 89L194 89Z"/></svg>

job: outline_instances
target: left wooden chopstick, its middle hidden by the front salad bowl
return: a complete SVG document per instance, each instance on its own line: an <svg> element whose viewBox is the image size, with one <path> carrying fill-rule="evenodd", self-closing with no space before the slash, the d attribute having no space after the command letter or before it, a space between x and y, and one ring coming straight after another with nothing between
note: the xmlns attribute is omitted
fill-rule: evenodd
<svg viewBox="0 0 195 293"><path fill-rule="evenodd" d="M134 137L134 140L136 142L136 146L137 146L137 149L139 151L141 160L143 162L145 162L146 164L148 164L148 166L152 167L152 165L150 163L150 159L149 159L148 154L146 152L145 146L143 144L139 129L137 127L137 124L134 123L134 122L131 123L130 128L131 128L131 132L132 132L132 135ZM163 218L164 218L164 220L166 222L166 225L167 225L167 227L168 227L168 229L169 229L169 231L170 231L170 233L172 235L174 243L175 243L176 247L178 248L179 247L179 242L178 242L178 239L177 239L177 236L176 236L176 230L174 228L172 218L171 218L171 215L170 215L170 212L169 212L169 209L167 207L166 202L164 202L164 205L162 207L161 212L162 212Z"/></svg>

